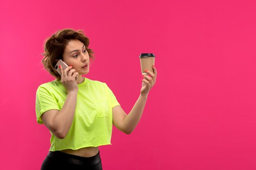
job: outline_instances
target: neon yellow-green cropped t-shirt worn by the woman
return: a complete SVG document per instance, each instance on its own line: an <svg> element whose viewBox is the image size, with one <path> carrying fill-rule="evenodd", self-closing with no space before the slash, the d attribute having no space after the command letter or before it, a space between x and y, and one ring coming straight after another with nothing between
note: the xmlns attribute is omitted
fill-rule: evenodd
<svg viewBox="0 0 256 170"><path fill-rule="evenodd" d="M85 78L78 84L76 110L72 126L65 139L58 139L52 132L51 151L108 145L112 134L112 108L120 105L106 83ZM61 110L67 92L61 81L42 84L36 91L36 119L47 110Z"/></svg>

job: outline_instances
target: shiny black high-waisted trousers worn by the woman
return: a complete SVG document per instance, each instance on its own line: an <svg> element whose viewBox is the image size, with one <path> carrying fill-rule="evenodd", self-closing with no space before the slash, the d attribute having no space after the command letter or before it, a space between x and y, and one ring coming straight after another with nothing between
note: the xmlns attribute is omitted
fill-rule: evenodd
<svg viewBox="0 0 256 170"><path fill-rule="evenodd" d="M49 151L41 170L102 170L99 153L93 157L80 157L60 151Z"/></svg>

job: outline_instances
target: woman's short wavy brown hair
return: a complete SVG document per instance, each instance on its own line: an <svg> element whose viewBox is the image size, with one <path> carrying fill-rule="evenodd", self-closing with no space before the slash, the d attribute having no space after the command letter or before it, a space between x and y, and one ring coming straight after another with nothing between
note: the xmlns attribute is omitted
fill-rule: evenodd
<svg viewBox="0 0 256 170"><path fill-rule="evenodd" d="M42 53L43 65L47 71L56 79L61 79L61 75L54 69L57 60L63 59L64 50L70 40L79 40L85 45L85 49L88 51L89 57L94 59L92 56L92 49L88 49L89 38L85 37L83 31L75 31L73 29L62 29L54 33L51 37L46 39L44 49L45 53Z"/></svg>

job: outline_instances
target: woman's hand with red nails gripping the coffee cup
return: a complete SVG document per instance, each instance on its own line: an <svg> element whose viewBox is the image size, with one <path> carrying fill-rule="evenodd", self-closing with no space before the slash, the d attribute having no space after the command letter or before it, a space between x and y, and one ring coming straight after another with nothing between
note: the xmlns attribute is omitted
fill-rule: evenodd
<svg viewBox="0 0 256 170"><path fill-rule="evenodd" d="M151 77L148 75L142 75L144 79L141 79L142 81L142 87L140 90L141 95L148 95L150 89L155 85L155 81L157 78L157 69L155 68L155 66L152 66L152 68L154 73L152 73L151 71L145 70L145 72L151 75Z"/></svg>

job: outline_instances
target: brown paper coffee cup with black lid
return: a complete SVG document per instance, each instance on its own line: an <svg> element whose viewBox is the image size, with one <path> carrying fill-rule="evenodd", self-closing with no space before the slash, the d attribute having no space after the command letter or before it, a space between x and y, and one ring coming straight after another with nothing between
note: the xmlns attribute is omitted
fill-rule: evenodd
<svg viewBox="0 0 256 170"><path fill-rule="evenodd" d="M143 75L148 75L145 70L154 73L152 66L155 65L155 55L152 53L141 53L139 56L141 73Z"/></svg>

